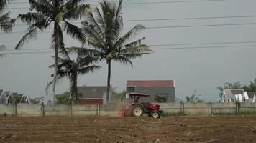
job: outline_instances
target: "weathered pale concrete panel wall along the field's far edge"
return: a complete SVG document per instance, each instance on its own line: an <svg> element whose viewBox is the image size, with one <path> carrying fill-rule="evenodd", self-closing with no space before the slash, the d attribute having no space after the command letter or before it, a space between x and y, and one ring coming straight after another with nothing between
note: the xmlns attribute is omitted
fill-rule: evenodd
<svg viewBox="0 0 256 143"><path fill-rule="evenodd" d="M116 117L122 105L44 105L0 104L0 115L10 116L111 116ZM165 114L237 114L255 113L256 103L161 103Z"/></svg>

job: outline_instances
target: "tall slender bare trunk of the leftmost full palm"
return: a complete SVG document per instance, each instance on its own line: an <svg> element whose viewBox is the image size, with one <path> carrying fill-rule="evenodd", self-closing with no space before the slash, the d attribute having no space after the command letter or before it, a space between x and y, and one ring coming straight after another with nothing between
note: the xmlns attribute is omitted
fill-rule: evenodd
<svg viewBox="0 0 256 143"><path fill-rule="evenodd" d="M55 104L55 94L56 94L56 81L57 81L57 71L58 71L58 24L54 24L54 36L53 36L53 41L54 41L54 51L55 51L55 59L54 59L54 76L53 76L53 87L52 87L52 104Z"/></svg>

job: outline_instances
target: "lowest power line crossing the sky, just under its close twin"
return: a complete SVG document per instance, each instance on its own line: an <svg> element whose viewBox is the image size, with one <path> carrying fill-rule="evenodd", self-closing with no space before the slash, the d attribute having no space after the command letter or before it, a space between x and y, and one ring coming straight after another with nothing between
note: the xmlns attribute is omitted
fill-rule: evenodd
<svg viewBox="0 0 256 143"><path fill-rule="evenodd" d="M234 45L234 46L191 46L191 47L176 47L176 48L151 48L152 50L172 50L172 49L224 49L224 48L232 48L232 47L251 47L255 48L256 44L253 45ZM29 52L9 52L2 54L49 54L54 53L53 51L29 51Z"/></svg>

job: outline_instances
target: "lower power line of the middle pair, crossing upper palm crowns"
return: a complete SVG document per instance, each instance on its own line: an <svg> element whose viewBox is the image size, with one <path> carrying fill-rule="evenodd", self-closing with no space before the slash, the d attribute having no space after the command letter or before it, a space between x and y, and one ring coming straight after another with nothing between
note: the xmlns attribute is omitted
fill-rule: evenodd
<svg viewBox="0 0 256 143"><path fill-rule="evenodd" d="M186 26L148 26L145 29L173 29L173 28L191 28L191 27L207 27L207 26L242 26L242 25L255 25L255 22L252 23L240 23L240 24L206 24L206 25L186 25ZM124 28L126 30L132 28ZM44 33L50 33L52 31L44 31ZM25 34L27 31L17 31L9 34ZM42 32L37 32L38 34L43 34ZM0 33L0 35L6 35L5 33Z"/></svg>

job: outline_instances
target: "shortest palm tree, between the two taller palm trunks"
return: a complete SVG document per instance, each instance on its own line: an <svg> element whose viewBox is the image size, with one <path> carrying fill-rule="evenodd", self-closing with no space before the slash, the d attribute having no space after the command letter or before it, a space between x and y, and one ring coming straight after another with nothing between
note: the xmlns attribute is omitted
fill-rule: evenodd
<svg viewBox="0 0 256 143"><path fill-rule="evenodd" d="M89 50L89 49L88 49ZM96 56L85 56L85 52L88 52L87 49L84 48L70 48L69 52L76 52L77 57L76 61L70 59L70 56L63 52L63 57L58 57L58 77L57 79L63 79L64 77L68 77L70 80L70 97L72 99L75 98L74 104L77 103L78 99L78 87L77 80L79 74L87 74L89 72L94 72L96 69L99 69L100 66L92 65L94 61L98 60ZM54 67L54 65L50 66ZM50 82L48 85L52 84ZM47 85L47 88L49 87Z"/></svg>

